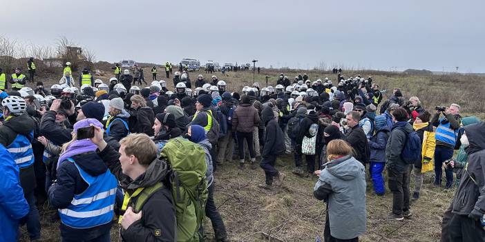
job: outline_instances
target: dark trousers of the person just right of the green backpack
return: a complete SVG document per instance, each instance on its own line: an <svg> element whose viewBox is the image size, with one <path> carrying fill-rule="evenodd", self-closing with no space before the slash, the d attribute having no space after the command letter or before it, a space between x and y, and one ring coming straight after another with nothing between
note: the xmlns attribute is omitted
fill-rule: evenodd
<svg viewBox="0 0 485 242"><path fill-rule="evenodd" d="M205 204L205 216L211 219L216 241L227 239L226 226L217 210L216 203L214 203L214 183L212 183L207 190L209 190L209 196L207 196L207 203ZM202 226L200 226L199 233L202 234L203 238L204 228Z"/></svg>

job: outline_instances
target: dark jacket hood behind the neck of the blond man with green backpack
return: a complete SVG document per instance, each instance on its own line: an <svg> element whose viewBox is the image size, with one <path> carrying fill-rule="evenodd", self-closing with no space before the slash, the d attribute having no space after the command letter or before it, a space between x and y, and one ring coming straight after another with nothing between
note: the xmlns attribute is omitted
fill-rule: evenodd
<svg viewBox="0 0 485 242"><path fill-rule="evenodd" d="M122 181L122 187L135 190L137 188L147 188L159 181L164 181L165 177L169 174L169 166L167 162L155 158L146 168L145 173L141 174L140 177L137 177L135 181L131 181L131 179L125 179ZM131 181L131 182L130 182Z"/></svg>

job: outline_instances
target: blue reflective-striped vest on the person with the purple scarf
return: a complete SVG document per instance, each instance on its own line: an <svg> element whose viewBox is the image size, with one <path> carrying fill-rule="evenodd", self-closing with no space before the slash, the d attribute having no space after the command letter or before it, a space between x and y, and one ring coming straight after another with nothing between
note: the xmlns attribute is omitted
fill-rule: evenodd
<svg viewBox="0 0 485 242"><path fill-rule="evenodd" d="M82 179L88 183L88 188L81 194L75 194L67 208L59 209L62 223L79 229L111 223L117 188L115 176L106 170L104 174L93 177L82 170L72 158L67 161L76 165Z"/></svg>

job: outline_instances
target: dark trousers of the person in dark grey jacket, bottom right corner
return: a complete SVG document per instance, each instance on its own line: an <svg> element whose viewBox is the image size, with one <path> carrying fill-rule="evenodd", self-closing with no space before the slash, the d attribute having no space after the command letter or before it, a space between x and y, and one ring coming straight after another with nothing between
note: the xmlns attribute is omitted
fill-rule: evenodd
<svg viewBox="0 0 485 242"><path fill-rule="evenodd" d="M479 242L485 241L482 223L466 215L453 214L448 223L450 241Z"/></svg>

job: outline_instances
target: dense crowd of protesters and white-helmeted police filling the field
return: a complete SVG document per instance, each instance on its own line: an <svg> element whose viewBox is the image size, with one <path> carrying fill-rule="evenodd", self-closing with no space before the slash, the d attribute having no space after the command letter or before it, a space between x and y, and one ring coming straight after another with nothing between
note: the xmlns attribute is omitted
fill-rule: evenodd
<svg viewBox="0 0 485 242"><path fill-rule="evenodd" d="M385 169L386 219L409 219L423 174L434 171L437 187L457 188L442 241L485 240L485 123L461 117L456 103L426 110L399 88L384 100L372 77L341 72L333 82L281 73L274 87L231 93L215 75L192 83L185 71L175 72L173 91L165 81L141 88L140 70L133 77L118 65L109 83L85 68L78 89L66 68L49 90L40 81L0 90L1 241L15 241L23 224L40 238L43 196L58 210L62 241L110 241L113 217L123 241L202 241L204 216L216 241L229 241L214 172L237 157L238 168L264 171L259 188L274 190L287 176L276 168L283 154L294 156L294 174L318 176L325 241L365 233L366 181L385 194Z"/></svg>

